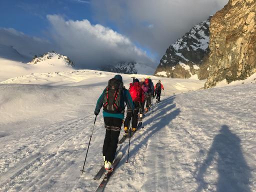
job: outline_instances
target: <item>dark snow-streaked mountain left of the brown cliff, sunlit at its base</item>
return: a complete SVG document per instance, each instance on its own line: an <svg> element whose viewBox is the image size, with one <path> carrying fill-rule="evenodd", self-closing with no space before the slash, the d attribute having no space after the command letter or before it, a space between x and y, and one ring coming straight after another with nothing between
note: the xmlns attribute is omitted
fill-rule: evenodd
<svg viewBox="0 0 256 192"><path fill-rule="evenodd" d="M210 19L211 16L193 26L189 32L171 44L154 74L171 78L190 78L193 75L195 78L205 79L207 66L202 63L209 54Z"/></svg>

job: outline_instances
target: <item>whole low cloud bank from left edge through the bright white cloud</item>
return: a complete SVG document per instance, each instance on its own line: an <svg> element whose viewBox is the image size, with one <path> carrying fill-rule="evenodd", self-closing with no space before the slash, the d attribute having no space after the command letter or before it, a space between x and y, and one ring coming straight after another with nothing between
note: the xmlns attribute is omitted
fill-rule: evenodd
<svg viewBox="0 0 256 192"><path fill-rule="evenodd" d="M146 52L129 38L108 27L92 25L88 20L65 20L47 15L49 40L25 35L12 28L0 28L0 44L13 46L23 55L54 50L70 57L78 68L97 68L119 61L137 61L152 65Z"/></svg>

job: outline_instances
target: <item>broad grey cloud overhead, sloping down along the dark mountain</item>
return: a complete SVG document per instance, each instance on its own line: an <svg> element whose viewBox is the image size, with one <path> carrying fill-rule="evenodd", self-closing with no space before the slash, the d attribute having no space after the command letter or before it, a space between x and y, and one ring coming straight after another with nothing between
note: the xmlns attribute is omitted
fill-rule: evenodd
<svg viewBox="0 0 256 192"><path fill-rule="evenodd" d="M99 23L114 23L131 41L158 59L166 48L193 25L206 20L228 0L93 0Z"/></svg>

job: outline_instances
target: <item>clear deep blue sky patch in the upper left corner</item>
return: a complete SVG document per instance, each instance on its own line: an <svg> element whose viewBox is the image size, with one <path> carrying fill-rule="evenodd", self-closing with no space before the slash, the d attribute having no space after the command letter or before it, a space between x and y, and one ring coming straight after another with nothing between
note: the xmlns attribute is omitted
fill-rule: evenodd
<svg viewBox="0 0 256 192"><path fill-rule="evenodd" d="M89 0L1 0L0 27L15 28L28 35L41 36L48 26L47 14L67 19L88 19L94 23Z"/></svg>

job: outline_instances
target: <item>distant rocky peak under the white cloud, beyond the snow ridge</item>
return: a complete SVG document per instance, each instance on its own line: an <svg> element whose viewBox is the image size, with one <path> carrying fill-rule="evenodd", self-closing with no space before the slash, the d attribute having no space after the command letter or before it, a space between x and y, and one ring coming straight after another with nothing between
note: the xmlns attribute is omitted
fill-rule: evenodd
<svg viewBox="0 0 256 192"><path fill-rule="evenodd" d="M113 65L105 65L100 67L99 70L123 74L153 74L154 72L153 67L135 61L122 61Z"/></svg>

